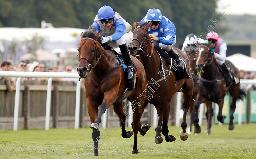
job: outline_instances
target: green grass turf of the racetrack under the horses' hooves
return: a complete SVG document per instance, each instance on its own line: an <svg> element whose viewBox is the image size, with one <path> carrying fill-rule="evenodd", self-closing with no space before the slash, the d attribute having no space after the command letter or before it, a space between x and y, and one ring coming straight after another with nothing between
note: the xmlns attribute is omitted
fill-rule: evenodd
<svg viewBox="0 0 256 159"><path fill-rule="evenodd" d="M212 134L205 135L206 125L196 136L187 141L180 139L181 127L169 126L169 134L175 142L155 144L155 128L145 136L138 134L139 154L133 155L133 136L121 137L121 128L102 136L97 158L256 158L256 124L212 125ZM100 128L102 134L106 130ZM114 130L114 129L113 129ZM130 128L126 128L130 130ZM95 158L90 152L93 146L90 128L50 130L0 131L0 158ZM88 144L87 147L85 147ZM85 148L84 148L85 147ZM84 151L83 151L84 148Z"/></svg>

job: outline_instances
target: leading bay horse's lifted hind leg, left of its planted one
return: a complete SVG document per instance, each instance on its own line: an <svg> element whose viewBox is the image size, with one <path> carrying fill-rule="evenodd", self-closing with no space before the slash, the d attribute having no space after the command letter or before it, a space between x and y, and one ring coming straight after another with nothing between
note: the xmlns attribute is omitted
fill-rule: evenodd
<svg viewBox="0 0 256 159"><path fill-rule="evenodd" d="M126 115L125 115L124 110L123 110L123 102L116 103L113 106L113 109L114 109L115 113L118 115L119 120L121 122L122 137L123 138L130 138L133 135L133 131L132 130L130 130L130 131L125 130Z"/></svg>

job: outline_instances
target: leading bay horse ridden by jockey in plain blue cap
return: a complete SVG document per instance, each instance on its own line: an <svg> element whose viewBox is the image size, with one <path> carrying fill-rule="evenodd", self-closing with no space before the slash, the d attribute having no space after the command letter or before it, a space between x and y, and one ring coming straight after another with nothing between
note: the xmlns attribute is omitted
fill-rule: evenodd
<svg viewBox="0 0 256 159"><path fill-rule="evenodd" d="M132 57L137 66L137 89L126 90L125 73L119 59L111 50L105 50L101 45L98 32L91 27L81 33L81 43L78 47L78 74L84 78L88 113L93 129L94 155L98 156L98 141L100 140L99 123L102 114L113 105L122 124L122 137L130 138L134 132L133 154L137 154L137 133L145 133L140 128L140 118L144 111L143 105L146 94L146 74L143 65L138 59ZM89 72L89 73L88 73ZM123 100L128 99L133 108L133 131L125 130L126 114L123 111Z"/></svg>

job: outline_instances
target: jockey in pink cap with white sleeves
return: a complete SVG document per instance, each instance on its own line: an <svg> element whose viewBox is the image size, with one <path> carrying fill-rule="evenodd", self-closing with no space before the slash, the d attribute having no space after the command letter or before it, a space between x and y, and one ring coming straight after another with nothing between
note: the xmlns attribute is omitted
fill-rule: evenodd
<svg viewBox="0 0 256 159"><path fill-rule="evenodd" d="M222 73L225 76L226 86L229 86L231 83L235 83L235 79L233 77L235 74L232 73L225 64L227 43L223 39L219 38L219 35L216 32L209 32L206 39L210 43L209 49L211 54L216 58L216 61L219 63ZM239 80L236 76L235 78L237 79L237 84Z"/></svg>

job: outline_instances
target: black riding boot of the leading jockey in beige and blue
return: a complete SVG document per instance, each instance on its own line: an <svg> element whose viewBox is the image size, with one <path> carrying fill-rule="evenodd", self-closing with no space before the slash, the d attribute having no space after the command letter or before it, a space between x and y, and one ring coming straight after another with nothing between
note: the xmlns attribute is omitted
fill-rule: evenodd
<svg viewBox="0 0 256 159"><path fill-rule="evenodd" d="M129 54L129 51L128 51L128 48L126 46L126 44L123 44L123 45L119 45L119 48L120 48L120 51L121 51L121 54L123 55L123 60L124 60L124 64L126 66L128 66L126 69L127 69L127 79L132 79L133 78L133 68L132 68L132 59L130 57L130 54Z"/></svg>

